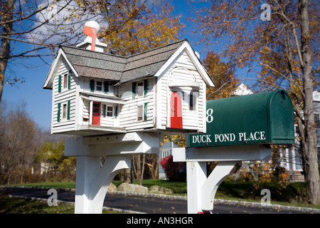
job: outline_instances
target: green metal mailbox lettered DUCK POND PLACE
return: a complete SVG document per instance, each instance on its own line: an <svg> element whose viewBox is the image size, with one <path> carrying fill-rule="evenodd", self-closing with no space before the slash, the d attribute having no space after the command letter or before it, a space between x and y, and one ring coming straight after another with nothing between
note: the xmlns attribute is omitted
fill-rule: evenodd
<svg viewBox="0 0 320 228"><path fill-rule="evenodd" d="M206 105L206 134L187 135L187 147L294 144L293 106L284 90L208 100Z"/></svg>

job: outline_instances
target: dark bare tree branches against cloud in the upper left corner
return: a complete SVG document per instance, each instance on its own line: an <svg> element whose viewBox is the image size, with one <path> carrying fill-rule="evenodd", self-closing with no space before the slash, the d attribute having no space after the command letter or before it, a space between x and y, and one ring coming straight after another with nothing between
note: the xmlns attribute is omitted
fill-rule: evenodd
<svg viewBox="0 0 320 228"><path fill-rule="evenodd" d="M41 4L41 2L36 0L1 1L0 101L4 82L11 84L23 82L22 76L17 76L13 70L8 71L7 66L12 61L18 58L41 58L41 56L52 55L45 50L70 41L70 36L67 36L65 32L70 33L69 29L72 26L68 26L68 31L61 27L65 25L65 21L71 19L71 16L64 14L65 18L63 18L60 14L65 10L74 11L69 8L72 1L52 1L46 4ZM60 20L57 20L58 15ZM16 48L17 46L19 48ZM21 62L16 61L16 63Z"/></svg>

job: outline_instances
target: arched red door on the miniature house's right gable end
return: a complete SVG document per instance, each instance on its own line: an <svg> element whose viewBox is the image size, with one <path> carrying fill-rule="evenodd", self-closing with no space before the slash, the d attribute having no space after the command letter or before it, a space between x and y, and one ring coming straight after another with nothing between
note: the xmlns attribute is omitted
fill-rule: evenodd
<svg viewBox="0 0 320 228"><path fill-rule="evenodd" d="M171 128L182 128L181 96L172 92L170 97Z"/></svg>

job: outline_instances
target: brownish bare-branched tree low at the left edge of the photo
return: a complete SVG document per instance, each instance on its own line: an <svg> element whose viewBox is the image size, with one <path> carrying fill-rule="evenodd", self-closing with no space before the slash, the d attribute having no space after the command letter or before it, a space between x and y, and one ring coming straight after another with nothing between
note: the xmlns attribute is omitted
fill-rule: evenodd
<svg viewBox="0 0 320 228"><path fill-rule="evenodd" d="M2 103L0 107L0 182L3 184L22 183L36 155L37 129L25 109L26 103L11 107Z"/></svg>

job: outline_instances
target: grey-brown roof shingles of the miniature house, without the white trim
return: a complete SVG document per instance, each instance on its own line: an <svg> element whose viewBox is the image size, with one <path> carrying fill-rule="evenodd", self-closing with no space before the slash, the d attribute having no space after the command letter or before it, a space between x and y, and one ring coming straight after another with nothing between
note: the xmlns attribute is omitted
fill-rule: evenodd
<svg viewBox="0 0 320 228"><path fill-rule="evenodd" d="M114 56L70 46L60 46L78 76L126 83L154 76L186 39L134 56Z"/></svg>

